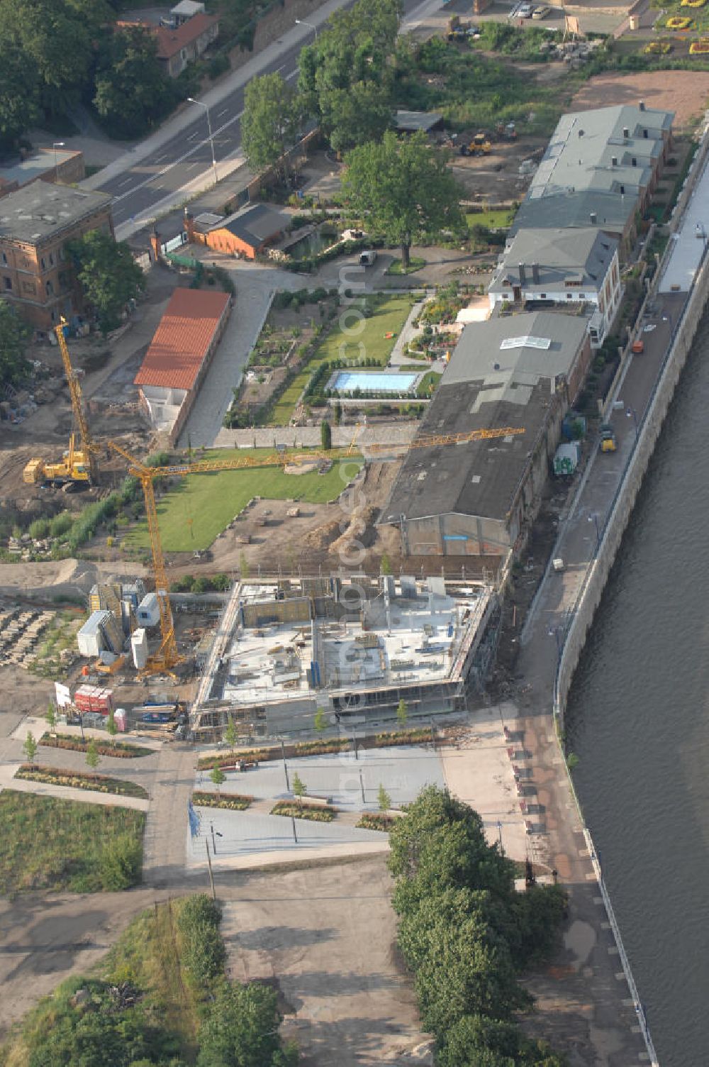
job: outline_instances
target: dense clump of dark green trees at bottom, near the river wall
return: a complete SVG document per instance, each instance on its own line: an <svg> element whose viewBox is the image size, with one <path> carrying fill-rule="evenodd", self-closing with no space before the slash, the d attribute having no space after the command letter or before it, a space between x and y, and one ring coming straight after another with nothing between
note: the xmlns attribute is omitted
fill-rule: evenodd
<svg viewBox="0 0 709 1067"><path fill-rule="evenodd" d="M398 943L415 974L441 1067L562 1067L514 1016L533 1001L520 970L553 945L558 887L515 891L515 864L485 840L480 815L435 786L389 834Z"/></svg>

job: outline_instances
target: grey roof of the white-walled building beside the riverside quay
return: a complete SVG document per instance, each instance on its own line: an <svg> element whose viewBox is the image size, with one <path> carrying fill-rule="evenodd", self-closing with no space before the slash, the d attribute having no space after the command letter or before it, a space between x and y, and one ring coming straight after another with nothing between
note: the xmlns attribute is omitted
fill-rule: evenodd
<svg viewBox="0 0 709 1067"><path fill-rule="evenodd" d="M575 280L581 286L601 286L617 249L617 241L591 226L579 229L520 229L507 244L488 292L509 293L520 285L519 264L525 267L523 288L563 288ZM534 281L534 267L538 281ZM504 285L507 280L509 285Z"/></svg>

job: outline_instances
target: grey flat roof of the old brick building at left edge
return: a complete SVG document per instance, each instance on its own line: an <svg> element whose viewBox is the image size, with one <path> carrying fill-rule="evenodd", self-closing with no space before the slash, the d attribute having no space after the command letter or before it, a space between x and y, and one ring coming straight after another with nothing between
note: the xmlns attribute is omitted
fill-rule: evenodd
<svg viewBox="0 0 709 1067"><path fill-rule="evenodd" d="M107 207L111 200L108 193L33 181L0 200L0 238L38 244Z"/></svg>

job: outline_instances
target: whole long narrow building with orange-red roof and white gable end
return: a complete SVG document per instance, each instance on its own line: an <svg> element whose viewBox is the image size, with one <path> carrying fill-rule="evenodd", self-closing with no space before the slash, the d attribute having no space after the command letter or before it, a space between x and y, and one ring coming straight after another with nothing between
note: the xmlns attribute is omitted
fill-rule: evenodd
<svg viewBox="0 0 709 1067"><path fill-rule="evenodd" d="M175 443L224 333L226 292L176 289L133 379L152 425Z"/></svg>

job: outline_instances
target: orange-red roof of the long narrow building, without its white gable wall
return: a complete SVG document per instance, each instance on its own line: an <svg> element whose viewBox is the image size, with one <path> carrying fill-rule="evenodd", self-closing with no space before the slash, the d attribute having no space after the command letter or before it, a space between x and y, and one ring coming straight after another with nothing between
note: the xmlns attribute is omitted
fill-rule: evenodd
<svg viewBox="0 0 709 1067"><path fill-rule="evenodd" d="M191 389L228 303L226 292L175 289L133 384Z"/></svg>

